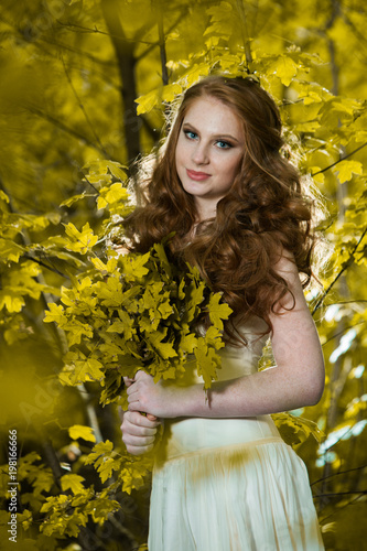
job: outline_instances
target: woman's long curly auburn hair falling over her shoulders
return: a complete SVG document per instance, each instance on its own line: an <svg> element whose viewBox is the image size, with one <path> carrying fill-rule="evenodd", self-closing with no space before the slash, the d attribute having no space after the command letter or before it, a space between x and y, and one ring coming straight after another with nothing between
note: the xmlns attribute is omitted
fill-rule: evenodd
<svg viewBox="0 0 367 551"><path fill-rule="evenodd" d="M216 217L197 224L194 199L177 176L175 149L187 110L203 97L233 109L244 128L245 148ZM142 204L123 222L131 249L138 252L175 233L169 242L171 258L183 267L197 266L213 291L223 292L233 310L225 325L233 343L244 341L234 320L240 326L259 316L268 333L272 329L269 315L290 292L273 269L283 250L293 256L303 287L312 277L312 201L302 191L298 170L281 152L281 128L277 105L256 80L226 76L201 80L185 91L153 171L142 179Z"/></svg>

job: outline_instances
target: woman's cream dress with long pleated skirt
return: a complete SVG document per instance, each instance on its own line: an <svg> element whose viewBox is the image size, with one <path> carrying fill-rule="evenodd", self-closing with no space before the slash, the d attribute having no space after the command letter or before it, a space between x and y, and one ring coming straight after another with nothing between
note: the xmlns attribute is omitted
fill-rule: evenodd
<svg viewBox="0 0 367 551"><path fill-rule="evenodd" d="M258 368L265 338L220 350L219 380ZM187 370L183 383L203 382ZM204 400L204 392L203 392ZM149 551L320 551L309 476L270 415L164 421L153 471Z"/></svg>

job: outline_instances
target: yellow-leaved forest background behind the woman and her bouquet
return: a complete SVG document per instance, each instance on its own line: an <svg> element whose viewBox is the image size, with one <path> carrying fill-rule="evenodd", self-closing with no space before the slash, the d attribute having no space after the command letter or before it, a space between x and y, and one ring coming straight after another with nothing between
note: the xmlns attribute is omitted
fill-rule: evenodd
<svg viewBox="0 0 367 551"><path fill-rule="evenodd" d="M306 463L326 549L367 549L366 10L363 0L1 2L3 549L14 545L9 529L30 551L145 549L147 465L125 471L98 366L60 379L69 335L84 329L45 324L44 311L54 303L50 321L60 322L62 289L76 296L87 287L133 159L162 138L170 102L213 68L260 79L280 106L291 159L324 196L331 258L323 290L306 298L326 390L316 407L276 421Z"/></svg>

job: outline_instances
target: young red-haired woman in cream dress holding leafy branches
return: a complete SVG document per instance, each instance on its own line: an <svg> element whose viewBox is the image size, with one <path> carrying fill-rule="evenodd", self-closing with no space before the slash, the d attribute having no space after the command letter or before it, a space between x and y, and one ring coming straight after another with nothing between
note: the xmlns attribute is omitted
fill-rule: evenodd
<svg viewBox="0 0 367 551"><path fill-rule="evenodd" d="M255 80L203 79L186 90L145 203L126 222L141 252L175 231L172 261L196 264L234 311L207 399L190 369L183 381L154 383L144 371L126 380L127 450L151 451L164 420L150 551L324 549L305 466L269 415L313 406L324 388L303 296L312 205L282 144L278 108ZM277 366L258 371L269 335Z"/></svg>

